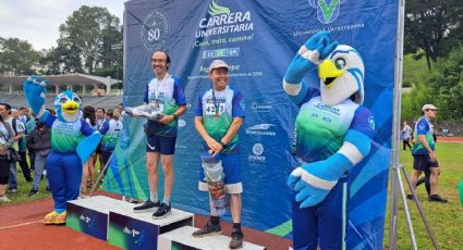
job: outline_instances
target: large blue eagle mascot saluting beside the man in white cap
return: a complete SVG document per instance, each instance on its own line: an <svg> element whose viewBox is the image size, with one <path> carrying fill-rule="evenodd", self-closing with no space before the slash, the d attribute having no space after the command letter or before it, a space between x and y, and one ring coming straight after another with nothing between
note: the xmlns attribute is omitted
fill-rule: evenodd
<svg viewBox="0 0 463 250"><path fill-rule="evenodd" d="M317 74L319 88L304 80ZM283 89L300 108L296 155L302 164L288 178L292 189L293 248L345 249L348 177L370 151L371 112L363 107L365 68L352 47L310 37L297 51Z"/></svg>

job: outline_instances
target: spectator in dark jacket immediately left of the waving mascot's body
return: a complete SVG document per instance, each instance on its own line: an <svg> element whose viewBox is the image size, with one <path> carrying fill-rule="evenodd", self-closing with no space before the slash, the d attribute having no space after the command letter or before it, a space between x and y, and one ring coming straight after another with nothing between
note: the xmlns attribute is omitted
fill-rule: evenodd
<svg viewBox="0 0 463 250"><path fill-rule="evenodd" d="M33 182L33 188L31 189L29 196L35 196L38 193L38 188L40 185L40 179L46 168L46 160L51 150L51 134L50 129L45 126L45 123L38 122L34 130L31 132L31 135L27 137L27 145L31 149L36 152L35 157L35 176ZM48 180L47 190L49 190Z"/></svg>

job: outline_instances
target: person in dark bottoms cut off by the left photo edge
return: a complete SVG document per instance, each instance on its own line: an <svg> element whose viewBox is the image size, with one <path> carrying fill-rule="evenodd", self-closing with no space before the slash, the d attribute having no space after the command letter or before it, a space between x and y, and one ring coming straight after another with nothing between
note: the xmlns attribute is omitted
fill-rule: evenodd
<svg viewBox="0 0 463 250"><path fill-rule="evenodd" d="M0 109L4 107L0 105ZM0 202L10 202L7 197L7 187L10 179L10 162L8 150L14 143L14 130L0 115Z"/></svg>

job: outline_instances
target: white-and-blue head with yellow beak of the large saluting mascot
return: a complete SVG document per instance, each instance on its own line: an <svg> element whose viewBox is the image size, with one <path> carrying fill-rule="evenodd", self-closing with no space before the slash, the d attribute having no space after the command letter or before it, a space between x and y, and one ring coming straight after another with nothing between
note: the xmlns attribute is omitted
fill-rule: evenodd
<svg viewBox="0 0 463 250"><path fill-rule="evenodd" d="M318 65L324 103L337 105L353 97L364 101L365 67L361 54L352 47L340 45Z"/></svg>

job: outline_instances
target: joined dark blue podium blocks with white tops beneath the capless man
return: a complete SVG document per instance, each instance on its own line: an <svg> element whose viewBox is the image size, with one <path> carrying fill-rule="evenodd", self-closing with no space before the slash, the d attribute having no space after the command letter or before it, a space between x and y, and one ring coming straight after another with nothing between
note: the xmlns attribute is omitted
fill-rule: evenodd
<svg viewBox="0 0 463 250"><path fill-rule="evenodd" d="M158 235L193 225L193 213L172 209L154 220L153 212L134 213L134 207L105 196L69 201L66 226L123 249L158 249Z"/></svg>

